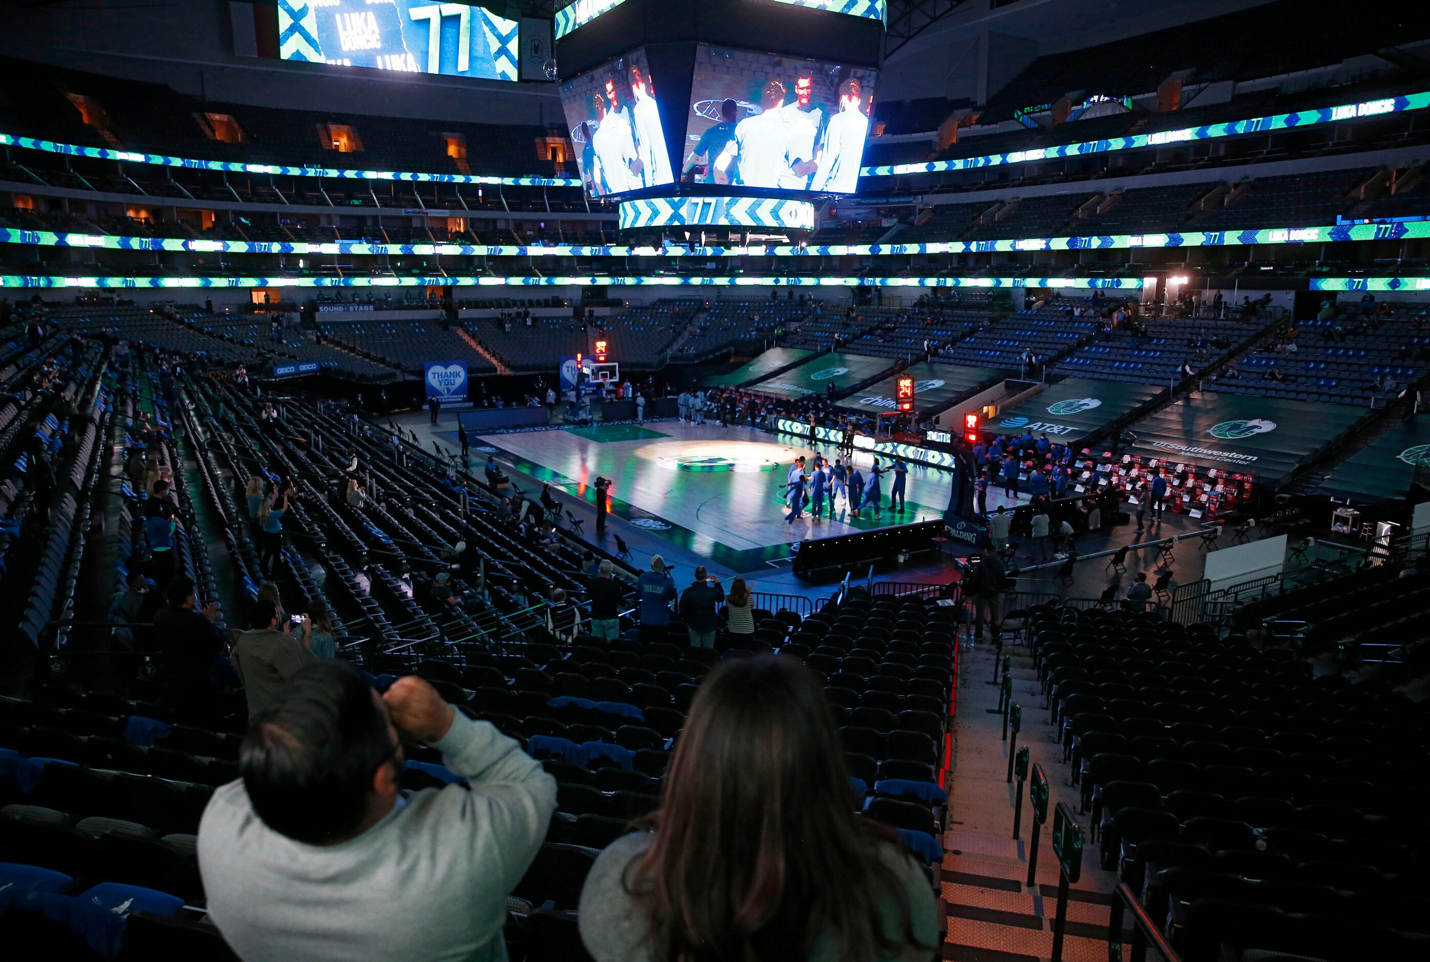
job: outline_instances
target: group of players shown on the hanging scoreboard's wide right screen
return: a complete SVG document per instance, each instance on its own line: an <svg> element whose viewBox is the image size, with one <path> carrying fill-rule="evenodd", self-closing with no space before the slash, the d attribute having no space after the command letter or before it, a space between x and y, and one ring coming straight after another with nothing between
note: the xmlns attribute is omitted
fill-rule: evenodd
<svg viewBox="0 0 1430 962"><path fill-rule="evenodd" d="M768 80L759 107L736 122L739 103L721 101L721 120L701 134L685 159L682 177L704 164L701 183L739 184L779 190L854 193L869 130L864 84L858 77L839 83L838 113L814 99L812 73L795 79L794 97L781 80Z"/></svg>

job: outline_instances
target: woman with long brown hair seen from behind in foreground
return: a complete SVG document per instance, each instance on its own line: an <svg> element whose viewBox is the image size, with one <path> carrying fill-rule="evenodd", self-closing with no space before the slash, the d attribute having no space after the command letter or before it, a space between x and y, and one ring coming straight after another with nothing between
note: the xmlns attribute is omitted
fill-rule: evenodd
<svg viewBox="0 0 1430 962"><path fill-rule="evenodd" d="M814 675L726 659L695 696L661 809L586 878L582 941L596 962L931 959L927 876L854 808Z"/></svg>

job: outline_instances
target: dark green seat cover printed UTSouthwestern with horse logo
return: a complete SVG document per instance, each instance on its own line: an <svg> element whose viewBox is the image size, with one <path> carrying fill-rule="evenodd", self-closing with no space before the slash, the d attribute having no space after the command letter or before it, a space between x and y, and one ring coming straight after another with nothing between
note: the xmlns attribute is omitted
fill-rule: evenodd
<svg viewBox="0 0 1430 962"><path fill-rule="evenodd" d="M1137 440L1124 453L1168 466L1251 472L1276 487L1369 415L1350 405L1204 390L1133 425Z"/></svg>

